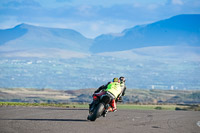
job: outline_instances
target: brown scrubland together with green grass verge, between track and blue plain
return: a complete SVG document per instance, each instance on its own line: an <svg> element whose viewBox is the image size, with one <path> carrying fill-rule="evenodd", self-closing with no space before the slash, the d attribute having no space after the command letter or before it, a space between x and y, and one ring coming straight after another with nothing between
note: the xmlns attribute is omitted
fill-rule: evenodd
<svg viewBox="0 0 200 133"><path fill-rule="evenodd" d="M95 89L0 88L0 106L88 108ZM67 104L66 104L67 103ZM118 109L200 111L200 91L129 89ZM183 105L180 105L183 104Z"/></svg>

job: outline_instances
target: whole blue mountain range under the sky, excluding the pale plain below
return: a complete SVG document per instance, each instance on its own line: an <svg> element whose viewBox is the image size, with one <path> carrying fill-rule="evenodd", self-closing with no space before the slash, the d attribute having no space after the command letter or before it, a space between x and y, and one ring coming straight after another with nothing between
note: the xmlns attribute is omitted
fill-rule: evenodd
<svg viewBox="0 0 200 133"><path fill-rule="evenodd" d="M45 53L46 56L50 53L63 55L65 52L71 55L85 55L152 46L196 47L200 46L200 15L178 15L125 29L121 33L100 35L94 39L86 38L71 29L45 28L28 24L0 30L0 36L1 56L8 53L22 56L19 52L25 52L27 55L38 53L45 57Z"/></svg>

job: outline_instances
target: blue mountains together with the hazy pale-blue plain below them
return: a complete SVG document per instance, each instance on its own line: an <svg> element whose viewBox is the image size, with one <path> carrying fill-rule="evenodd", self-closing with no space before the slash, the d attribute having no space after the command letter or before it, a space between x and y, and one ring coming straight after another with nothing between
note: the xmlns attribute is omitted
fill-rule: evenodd
<svg viewBox="0 0 200 133"><path fill-rule="evenodd" d="M200 89L200 14L86 38L72 29L20 24L0 30L0 87ZM77 83L78 81L78 83Z"/></svg>

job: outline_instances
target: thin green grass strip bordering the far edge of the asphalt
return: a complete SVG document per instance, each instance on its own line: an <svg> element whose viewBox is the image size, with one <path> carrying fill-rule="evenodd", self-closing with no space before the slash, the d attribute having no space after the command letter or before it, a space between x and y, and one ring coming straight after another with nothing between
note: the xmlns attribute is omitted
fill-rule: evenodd
<svg viewBox="0 0 200 133"><path fill-rule="evenodd" d="M42 107L61 107L61 108L89 108L88 104L50 104L50 103L18 103L18 102L0 102L0 106L42 106ZM137 104L118 104L118 109L133 110L192 110L200 111L199 105L137 105Z"/></svg>

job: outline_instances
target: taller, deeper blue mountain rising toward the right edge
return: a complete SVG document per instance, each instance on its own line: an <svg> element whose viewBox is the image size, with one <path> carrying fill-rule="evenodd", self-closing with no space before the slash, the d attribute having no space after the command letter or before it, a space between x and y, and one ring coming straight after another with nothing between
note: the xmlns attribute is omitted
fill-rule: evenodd
<svg viewBox="0 0 200 133"><path fill-rule="evenodd" d="M152 46L200 46L200 14L178 15L152 24L125 29L120 34L100 35L93 53Z"/></svg>

